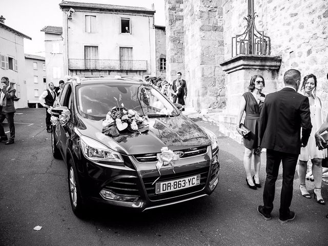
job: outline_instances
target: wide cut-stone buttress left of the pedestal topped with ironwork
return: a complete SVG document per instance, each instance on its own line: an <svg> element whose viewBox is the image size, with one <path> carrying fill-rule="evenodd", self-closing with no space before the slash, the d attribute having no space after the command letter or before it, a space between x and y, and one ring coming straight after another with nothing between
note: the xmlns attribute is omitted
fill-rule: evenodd
<svg viewBox="0 0 328 246"><path fill-rule="evenodd" d="M221 0L185 0L187 107L220 108L224 101Z"/></svg>

